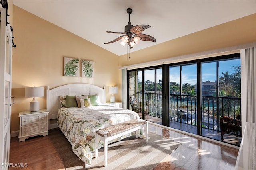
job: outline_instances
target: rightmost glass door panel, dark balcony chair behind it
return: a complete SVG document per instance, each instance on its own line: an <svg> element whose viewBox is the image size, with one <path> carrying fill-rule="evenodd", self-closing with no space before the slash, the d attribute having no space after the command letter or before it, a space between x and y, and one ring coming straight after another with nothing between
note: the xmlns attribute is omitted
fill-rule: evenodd
<svg viewBox="0 0 256 170"><path fill-rule="evenodd" d="M202 62L202 136L220 139L220 118L241 117L240 58ZM240 145L240 131L225 135L224 141ZM235 137L235 138L234 138ZM233 140L234 139L234 140Z"/></svg>

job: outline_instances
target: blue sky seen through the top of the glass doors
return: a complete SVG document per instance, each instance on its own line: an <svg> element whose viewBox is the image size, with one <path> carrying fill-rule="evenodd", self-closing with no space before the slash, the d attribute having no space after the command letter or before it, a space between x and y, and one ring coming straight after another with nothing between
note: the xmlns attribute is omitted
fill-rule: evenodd
<svg viewBox="0 0 256 170"><path fill-rule="evenodd" d="M232 74L235 72L233 67L240 66L240 59L226 60L219 62L219 74L228 72ZM169 69L170 82L180 82L179 70L180 67L171 67ZM145 80L154 81L154 70L145 71ZM162 79L162 70L158 69L156 73L156 80ZM141 75L138 75L139 80L142 80ZM202 82L216 81L216 62L202 63ZM182 66L182 84L188 83L191 85L196 84L196 64Z"/></svg>

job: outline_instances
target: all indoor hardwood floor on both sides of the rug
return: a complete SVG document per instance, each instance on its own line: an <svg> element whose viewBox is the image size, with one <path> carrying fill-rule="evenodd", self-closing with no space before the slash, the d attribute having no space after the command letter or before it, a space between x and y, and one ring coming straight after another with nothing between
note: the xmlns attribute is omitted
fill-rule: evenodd
<svg viewBox="0 0 256 170"><path fill-rule="evenodd" d="M149 131L182 143L172 154L159 162L155 170L231 170L236 164L238 149L216 145L182 133L149 124ZM70 145L71 147L71 145ZM65 169L48 136L19 142L12 137L9 170ZM15 167L22 164L26 167Z"/></svg>

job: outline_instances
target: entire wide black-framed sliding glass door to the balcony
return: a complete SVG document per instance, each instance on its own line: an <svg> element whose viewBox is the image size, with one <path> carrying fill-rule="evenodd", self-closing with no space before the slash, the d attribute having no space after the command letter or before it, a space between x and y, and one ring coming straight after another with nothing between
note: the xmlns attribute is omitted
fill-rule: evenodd
<svg viewBox="0 0 256 170"><path fill-rule="evenodd" d="M128 70L128 108L142 119L221 141L220 119L241 117L240 74L240 54ZM225 136L240 145L240 132Z"/></svg>

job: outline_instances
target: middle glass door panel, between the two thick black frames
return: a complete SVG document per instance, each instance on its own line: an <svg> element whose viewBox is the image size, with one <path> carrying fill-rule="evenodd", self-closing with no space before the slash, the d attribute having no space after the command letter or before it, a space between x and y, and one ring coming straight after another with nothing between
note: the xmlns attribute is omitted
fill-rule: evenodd
<svg viewBox="0 0 256 170"><path fill-rule="evenodd" d="M170 66L169 79L170 127L197 134L196 63Z"/></svg>

